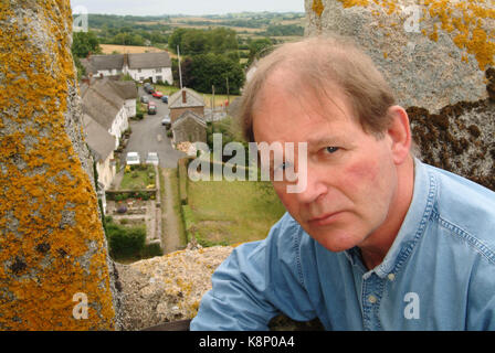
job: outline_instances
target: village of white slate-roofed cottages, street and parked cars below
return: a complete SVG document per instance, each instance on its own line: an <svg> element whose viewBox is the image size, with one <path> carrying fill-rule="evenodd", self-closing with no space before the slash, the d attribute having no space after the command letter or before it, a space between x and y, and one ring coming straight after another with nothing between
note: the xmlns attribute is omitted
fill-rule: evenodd
<svg viewBox="0 0 495 353"><path fill-rule="evenodd" d="M102 212L117 224L145 225L147 245L177 250L179 239L162 237L160 188L166 185L160 184L159 168L177 168L191 141L206 142L202 97L183 87L162 99L161 93L149 88L159 82L173 83L167 52L94 55L83 65L87 73L80 86L83 128L95 161ZM122 81L123 75L133 79ZM139 105L146 118L138 120ZM125 183L135 175L134 169L150 171L149 183ZM177 232L168 235L179 236Z"/></svg>

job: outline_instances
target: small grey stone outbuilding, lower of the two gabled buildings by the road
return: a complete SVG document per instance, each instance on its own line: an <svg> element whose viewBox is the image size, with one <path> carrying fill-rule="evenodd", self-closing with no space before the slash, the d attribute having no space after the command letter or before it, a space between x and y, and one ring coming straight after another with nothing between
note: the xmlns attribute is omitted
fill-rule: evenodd
<svg viewBox="0 0 495 353"><path fill-rule="evenodd" d="M171 126L172 143L207 142L207 124L191 110L186 110Z"/></svg>

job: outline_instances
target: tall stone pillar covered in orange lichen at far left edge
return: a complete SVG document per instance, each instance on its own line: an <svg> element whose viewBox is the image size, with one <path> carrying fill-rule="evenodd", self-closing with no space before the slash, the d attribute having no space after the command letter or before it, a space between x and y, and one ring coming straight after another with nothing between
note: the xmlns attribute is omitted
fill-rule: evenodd
<svg viewBox="0 0 495 353"><path fill-rule="evenodd" d="M69 0L0 1L0 330L116 327L71 35Z"/></svg>

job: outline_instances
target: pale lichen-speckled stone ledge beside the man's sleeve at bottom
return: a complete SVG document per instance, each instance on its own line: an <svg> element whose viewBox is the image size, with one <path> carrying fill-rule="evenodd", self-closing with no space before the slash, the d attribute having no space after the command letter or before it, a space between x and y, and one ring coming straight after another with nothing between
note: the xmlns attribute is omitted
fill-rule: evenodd
<svg viewBox="0 0 495 353"><path fill-rule="evenodd" d="M143 330L192 319L211 275L232 247L185 249L131 265L117 264L124 300L123 329Z"/></svg>

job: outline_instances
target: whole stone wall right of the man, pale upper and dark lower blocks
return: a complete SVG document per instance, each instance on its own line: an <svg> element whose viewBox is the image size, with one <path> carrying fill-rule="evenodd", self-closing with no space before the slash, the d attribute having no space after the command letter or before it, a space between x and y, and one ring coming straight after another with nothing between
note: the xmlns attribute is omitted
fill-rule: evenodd
<svg viewBox="0 0 495 353"><path fill-rule="evenodd" d="M367 52L407 108L420 158L495 190L493 1L306 0L307 35Z"/></svg>

